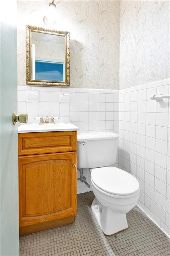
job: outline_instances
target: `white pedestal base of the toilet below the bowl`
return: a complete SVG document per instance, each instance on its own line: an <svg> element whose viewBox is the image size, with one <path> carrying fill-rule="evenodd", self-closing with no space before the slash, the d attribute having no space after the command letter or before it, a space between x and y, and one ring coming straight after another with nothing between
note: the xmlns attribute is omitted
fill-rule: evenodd
<svg viewBox="0 0 170 256"><path fill-rule="evenodd" d="M113 235L128 228L126 214L117 213L105 207L96 197L92 202L91 208L105 235Z"/></svg>

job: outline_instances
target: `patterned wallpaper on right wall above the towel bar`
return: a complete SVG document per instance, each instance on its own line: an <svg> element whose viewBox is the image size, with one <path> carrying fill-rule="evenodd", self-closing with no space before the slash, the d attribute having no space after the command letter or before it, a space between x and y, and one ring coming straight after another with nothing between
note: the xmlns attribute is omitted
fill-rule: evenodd
<svg viewBox="0 0 170 256"><path fill-rule="evenodd" d="M121 1L120 89L170 77L170 1Z"/></svg>

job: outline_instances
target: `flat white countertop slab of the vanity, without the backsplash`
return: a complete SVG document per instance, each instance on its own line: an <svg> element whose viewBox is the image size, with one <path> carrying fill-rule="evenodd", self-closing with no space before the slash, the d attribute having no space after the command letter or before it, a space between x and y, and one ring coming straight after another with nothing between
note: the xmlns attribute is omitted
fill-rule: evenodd
<svg viewBox="0 0 170 256"><path fill-rule="evenodd" d="M22 124L18 127L18 133L26 132L58 132L58 131L78 131L79 128L71 123L56 124Z"/></svg>

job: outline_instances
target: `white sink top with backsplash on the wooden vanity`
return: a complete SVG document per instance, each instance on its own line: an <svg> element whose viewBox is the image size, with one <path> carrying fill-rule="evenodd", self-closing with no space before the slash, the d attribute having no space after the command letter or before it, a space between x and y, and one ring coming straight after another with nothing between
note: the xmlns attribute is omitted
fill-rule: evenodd
<svg viewBox="0 0 170 256"><path fill-rule="evenodd" d="M79 128L71 124L69 118L55 118L55 124L39 124L40 118L30 118L29 123L18 127L18 133L27 132L54 132L54 131L78 131Z"/></svg>

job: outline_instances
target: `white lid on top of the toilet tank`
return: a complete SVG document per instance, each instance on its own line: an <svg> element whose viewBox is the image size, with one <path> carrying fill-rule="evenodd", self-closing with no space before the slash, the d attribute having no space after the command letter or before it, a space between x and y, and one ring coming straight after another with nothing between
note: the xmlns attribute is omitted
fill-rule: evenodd
<svg viewBox="0 0 170 256"><path fill-rule="evenodd" d="M113 132L87 132L77 134L77 141L108 140L116 138L119 138L119 135Z"/></svg>

